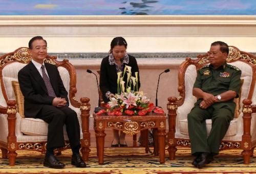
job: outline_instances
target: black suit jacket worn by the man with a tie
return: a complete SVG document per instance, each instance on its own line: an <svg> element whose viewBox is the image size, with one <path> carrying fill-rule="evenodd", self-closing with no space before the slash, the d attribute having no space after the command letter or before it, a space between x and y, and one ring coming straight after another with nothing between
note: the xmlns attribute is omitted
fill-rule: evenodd
<svg viewBox="0 0 256 174"><path fill-rule="evenodd" d="M68 92L63 85L57 67L49 63L45 63L45 67L56 96L66 98L68 102ZM48 95L45 82L32 62L19 70L18 82L24 95L26 117L35 118L43 105L52 105L54 97Z"/></svg>

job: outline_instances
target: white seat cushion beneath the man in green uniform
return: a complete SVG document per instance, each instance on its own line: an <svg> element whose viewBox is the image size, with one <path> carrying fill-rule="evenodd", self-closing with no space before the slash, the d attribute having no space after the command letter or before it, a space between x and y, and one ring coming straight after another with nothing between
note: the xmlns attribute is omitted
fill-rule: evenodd
<svg viewBox="0 0 256 174"><path fill-rule="evenodd" d="M188 135L188 126L187 126L187 119L182 119L180 122L180 133ZM206 119L206 130L207 135L209 135L211 130L211 119ZM230 121L230 125L228 127L227 133L225 136L233 136L237 134L237 119L234 118Z"/></svg>

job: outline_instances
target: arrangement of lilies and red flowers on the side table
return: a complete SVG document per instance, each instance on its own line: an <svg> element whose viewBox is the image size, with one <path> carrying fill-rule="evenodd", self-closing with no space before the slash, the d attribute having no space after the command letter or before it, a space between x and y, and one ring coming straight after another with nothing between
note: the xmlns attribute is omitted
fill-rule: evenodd
<svg viewBox="0 0 256 174"><path fill-rule="evenodd" d="M138 72L132 77L132 67L126 66L124 73L117 73L117 94L110 96L110 102L106 105L106 109L100 110L97 115L146 115L154 112L163 114L162 108L155 107L150 103L150 98L144 95L142 91L138 91ZM126 72L127 70L127 72ZM123 74L127 73L127 84L123 81Z"/></svg>

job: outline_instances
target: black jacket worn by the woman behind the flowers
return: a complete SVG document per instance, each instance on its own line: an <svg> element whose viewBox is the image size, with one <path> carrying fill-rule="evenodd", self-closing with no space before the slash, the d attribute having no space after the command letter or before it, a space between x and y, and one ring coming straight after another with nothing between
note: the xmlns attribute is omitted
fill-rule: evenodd
<svg viewBox="0 0 256 174"><path fill-rule="evenodd" d="M139 76L139 67L135 57L129 55L129 63L124 63L123 67L131 66L132 67L132 76L135 77L135 72L138 72L138 87L140 88L140 76ZM125 74L123 81L125 81L126 86L127 75ZM100 80L99 87L102 92L102 98L104 103L107 103L109 100L106 98L105 93L110 91L113 94L117 93L117 71L116 65L109 64L109 56L105 57L101 61L100 65Z"/></svg>

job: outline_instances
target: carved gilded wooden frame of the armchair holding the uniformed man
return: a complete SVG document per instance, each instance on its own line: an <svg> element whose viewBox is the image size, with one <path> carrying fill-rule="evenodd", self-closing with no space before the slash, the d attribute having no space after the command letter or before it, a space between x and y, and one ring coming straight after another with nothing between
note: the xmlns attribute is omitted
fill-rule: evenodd
<svg viewBox="0 0 256 174"><path fill-rule="evenodd" d="M227 57L227 63L237 62L237 65L245 64L245 66L251 67L251 81L248 89L248 95L245 98L241 98L241 110L239 118L237 119L238 127L241 130L238 130L237 137L224 137L220 144L220 150L242 150L242 155L244 158L244 164L249 164L250 157L253 155L254 147L256 146L256 132L253 131L256 126L256 122L254 117L252 118L252 114L256 113L256 106L252 105L256 103L256 94L254 92L255 87L255 79L256 79L256 58L248 54L246 52L240 51L237 47L229 46L229 55ZM179 129L177 128L177 124L179 123L179 107L181 107L187 99L187 86L185 86L185 72L189 65L196 66L195 70L200 69L201 67L209 64L207 54L197 56L196 60L192 60L190 58L186 58L186 60L180 65L178 72L178 91L180 93L179 97L169 97L168 98L168 123L169 130L167 133L167 142L168 142L168 152L169 159L175 159L175 153L177 151L176 146L182 147L190 147L190 140L188 135L180 136ZM235 65L235 66L237 66ZM241 65L242 66L242 65ZM242 69L241 69L242 70ZM243 70L242 70L243 74ZM195 75L196 76L196 75ZM241 78L242 79L242 78ZM195 81L194 81L195 82ZM193 86L193 84L191 84ZM190 95L188 96L190 97ZM193 106L192 106L193 107ZM184 109L184 108L183 108ZM191 110L191 108L186 108L187 110ZM181 112L181 111L180 111ZM255 114L253 114L255 116ZM239 135L240 132L240 135ZM227 134L226 134L227 135ZM183 138L181 138L183 137ZM185 138L184 138L185 137Z"/></svg>

